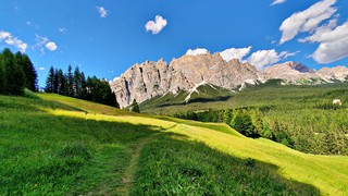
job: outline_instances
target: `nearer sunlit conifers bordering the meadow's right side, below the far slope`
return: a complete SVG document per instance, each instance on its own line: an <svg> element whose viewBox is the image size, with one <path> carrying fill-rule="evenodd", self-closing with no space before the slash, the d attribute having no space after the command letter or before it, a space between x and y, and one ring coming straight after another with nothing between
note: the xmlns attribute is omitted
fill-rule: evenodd
<svg viewBox="0 0 348 196"><path fill-rule="evenodd" d="M175 118L224 122L248 137L264 137L294 149L320 155L348 155L346 109L276 111L240 108L182 112Z"/></svg>

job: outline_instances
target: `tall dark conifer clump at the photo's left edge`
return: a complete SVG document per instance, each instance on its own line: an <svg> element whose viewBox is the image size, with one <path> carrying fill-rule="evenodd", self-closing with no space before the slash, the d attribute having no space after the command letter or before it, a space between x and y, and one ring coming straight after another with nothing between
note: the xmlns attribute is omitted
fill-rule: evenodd
<svg viewBox="0 0 348 196"><path fill-rule="evenodd" d="M0 53L0 94L22 95L24 88L38 89L37 72L27 54L5 48Z"/></svg>

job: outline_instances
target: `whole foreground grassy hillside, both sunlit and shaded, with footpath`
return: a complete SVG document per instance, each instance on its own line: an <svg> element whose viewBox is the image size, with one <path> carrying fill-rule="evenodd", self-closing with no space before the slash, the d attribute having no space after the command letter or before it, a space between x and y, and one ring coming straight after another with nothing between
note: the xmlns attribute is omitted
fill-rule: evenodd
<svg viewBox="0 0 348 196"><path fill-rule="evenodd" d="M38 94L0 96L4 195L346 195L348 157L307 155L225 124Z"/></svg>

